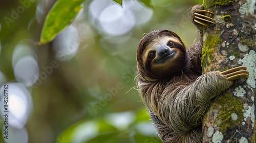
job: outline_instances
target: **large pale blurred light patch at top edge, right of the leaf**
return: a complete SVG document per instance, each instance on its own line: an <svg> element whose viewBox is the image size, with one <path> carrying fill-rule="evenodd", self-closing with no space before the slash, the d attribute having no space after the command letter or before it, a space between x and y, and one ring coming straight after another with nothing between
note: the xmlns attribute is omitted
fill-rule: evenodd
<svg viewBox="0 0 256 143"><path fill-rule="evenodd" d="M91 22L100 33L120 36L130 32L135 25L151 19L153 11L137 1L123 1L123 7L111 0L94 0L89 6Z"/></svg>

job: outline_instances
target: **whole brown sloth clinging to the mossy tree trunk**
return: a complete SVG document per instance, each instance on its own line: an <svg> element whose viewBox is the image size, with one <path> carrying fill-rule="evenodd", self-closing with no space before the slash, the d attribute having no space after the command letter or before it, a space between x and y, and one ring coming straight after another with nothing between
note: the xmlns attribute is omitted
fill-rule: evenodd
<svg viewBox="0 0 256 143"><path fill-rule="evenodd" d="M201 5L191 9L199 41L189 49L170 30L152 31L138 46L137 86L163 142L201 142L202 117L211 99L231 86L232 80L248 77L248 71L240 70L246 67L202 75L200 27L214 23L204 13L211 12Z"/></svg>

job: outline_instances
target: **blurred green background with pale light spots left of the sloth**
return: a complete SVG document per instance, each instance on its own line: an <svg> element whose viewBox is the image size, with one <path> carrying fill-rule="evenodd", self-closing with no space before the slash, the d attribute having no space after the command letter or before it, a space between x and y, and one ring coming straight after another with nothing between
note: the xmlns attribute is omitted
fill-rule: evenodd
<svg viewBox="0 0 256 143"><path fill-rule="evenodd" d="M0 142L161 142L136 90L137 46L169 29L189 47L197 39L190 8L202 2L153 0L151 9L87 0L53 42L37 45L54 3L0 1L0 87L10 96L9 138L1 110Z"/></svg>

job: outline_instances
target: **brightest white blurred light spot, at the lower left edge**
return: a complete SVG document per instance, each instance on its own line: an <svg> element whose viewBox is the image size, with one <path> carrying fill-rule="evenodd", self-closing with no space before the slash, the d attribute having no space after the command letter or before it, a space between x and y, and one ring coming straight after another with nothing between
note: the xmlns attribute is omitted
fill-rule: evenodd
<svg viewBox="0 0 256 143"><path fill-rule="evenodd" d="M0 106L0 114L5 121L6 112L4 111L8 111L8 126L21 129L27 123L32 109L30 92L23 83L6 83L5 85L0 88L0 105L7 103L8 106Z"/></svg>

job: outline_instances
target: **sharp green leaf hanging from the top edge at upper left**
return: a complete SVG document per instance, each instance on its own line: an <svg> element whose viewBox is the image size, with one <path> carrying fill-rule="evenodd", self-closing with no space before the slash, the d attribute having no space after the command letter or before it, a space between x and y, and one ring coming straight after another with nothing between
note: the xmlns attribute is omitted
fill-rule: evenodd
<svg viewBox="0 0 256 143"><path fill-rule="evenodd" d="M41 38L38 44L52 41L75 18L84 0L58 0L46 16Z"/></svg>

